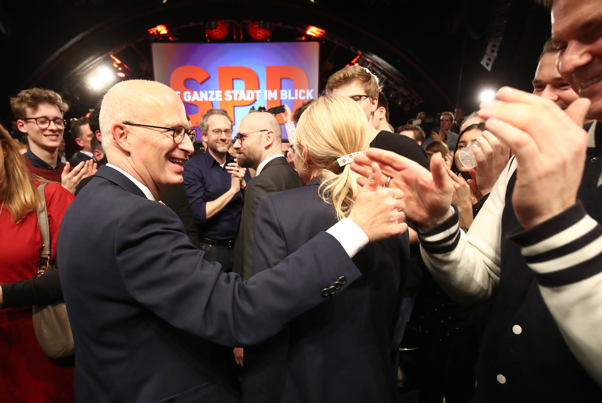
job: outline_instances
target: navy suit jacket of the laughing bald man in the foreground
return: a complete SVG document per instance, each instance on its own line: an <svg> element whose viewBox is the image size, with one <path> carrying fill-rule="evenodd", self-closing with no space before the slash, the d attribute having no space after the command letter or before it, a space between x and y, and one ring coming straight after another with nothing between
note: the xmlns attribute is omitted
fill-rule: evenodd
<svg viewBox="0 0 602 403"><path fill-rule="evenodd" d="M75 396L86 403L238 401L223 369L229 356L214 343L258 343L324 301L321 290L340 275L347 284L361 275L321 233L243 282L203 260L172 210L107 166L67 209L57 254L77 350Z"/></svg>

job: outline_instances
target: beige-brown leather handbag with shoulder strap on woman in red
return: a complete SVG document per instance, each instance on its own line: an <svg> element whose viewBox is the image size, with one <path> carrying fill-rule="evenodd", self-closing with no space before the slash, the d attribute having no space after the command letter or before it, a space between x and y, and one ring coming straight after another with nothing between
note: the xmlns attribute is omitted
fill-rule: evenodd
<svg viewBox="0 0 602 403"><path fill-rule="evenodd" d="M51 263L50 261L51 239L46 198L44 196L45 186L46 184L41 184L38 187L38 192L40 192L44 201L44 208L37 211L40 233L42 233L42 252L37 265L38 276L57 269L54 262ZM64 358L75 353L73 334L71 333L67 307L64 302L57 302L52 305L34 305L32 315L34 331L46 357Z"/></svg>

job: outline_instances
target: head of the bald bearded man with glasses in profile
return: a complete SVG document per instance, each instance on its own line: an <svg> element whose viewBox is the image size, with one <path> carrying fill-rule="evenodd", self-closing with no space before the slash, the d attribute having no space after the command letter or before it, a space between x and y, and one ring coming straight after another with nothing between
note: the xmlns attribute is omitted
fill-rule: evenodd
<svg viewBox="0 0 602 403"><path fill-rule="evenodd" d="M243 168L257 169L261 163L264 148L265 131L268 129L263 113L249 113L238 124L238 139L234 142L237 163ZM247 133L247 134L241 134Z"/></svg>

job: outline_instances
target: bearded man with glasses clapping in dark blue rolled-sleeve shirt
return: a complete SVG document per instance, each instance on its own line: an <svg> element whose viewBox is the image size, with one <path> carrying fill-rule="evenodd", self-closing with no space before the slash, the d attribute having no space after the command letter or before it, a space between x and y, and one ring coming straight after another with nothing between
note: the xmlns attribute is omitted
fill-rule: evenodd
<svg viewBox="0 0 602 403"><path fill-rule="evenodd" d="M234 238L243 211L241 190L251 176L228 154L232 145L232 119L228 112L208 109L199 128L207 149L184 165L184 187L197 220L205 259L218 261L223 270L231 272Z"/></svg>

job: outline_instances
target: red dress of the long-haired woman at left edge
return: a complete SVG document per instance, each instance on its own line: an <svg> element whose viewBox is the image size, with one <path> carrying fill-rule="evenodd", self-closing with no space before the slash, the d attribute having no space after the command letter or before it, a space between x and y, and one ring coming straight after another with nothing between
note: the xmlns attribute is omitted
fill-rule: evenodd
<svg viewBox="0 0 602 403"><path fill-rule="evenodd" d="M47 184L44 193L54 259L58 227L74 196L54 183ZM36 276L41 249L36 212L14 225L12 215L3 208L0 213L0 284ZM31 307L0 310L0 402L72 401L73 366L44 355L34 333Z"/></svg>

